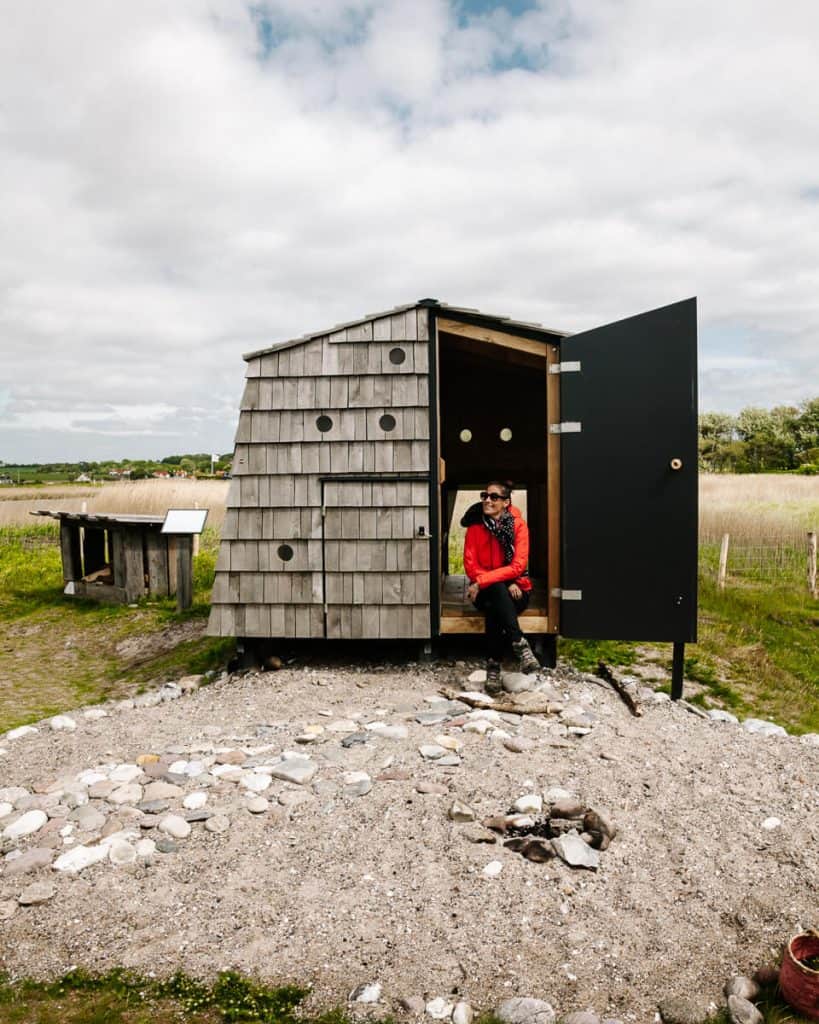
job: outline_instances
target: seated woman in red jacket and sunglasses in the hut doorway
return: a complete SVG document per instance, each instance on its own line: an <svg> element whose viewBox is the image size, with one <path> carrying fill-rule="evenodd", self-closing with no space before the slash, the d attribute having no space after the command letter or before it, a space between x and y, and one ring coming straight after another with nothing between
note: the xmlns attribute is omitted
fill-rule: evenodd
<svg viewBox="0 0 819 1024"><path fill-rule="evenodd" d="M485 615L486 692L501 691L501 659L507 643L521 672L541 665L518 625L529 603L531 581L529 529L512 504L512 485L492 480L480 493L480 503L467 509L461 525L467 527L464 570L469 577L469 599Z"/></svg>

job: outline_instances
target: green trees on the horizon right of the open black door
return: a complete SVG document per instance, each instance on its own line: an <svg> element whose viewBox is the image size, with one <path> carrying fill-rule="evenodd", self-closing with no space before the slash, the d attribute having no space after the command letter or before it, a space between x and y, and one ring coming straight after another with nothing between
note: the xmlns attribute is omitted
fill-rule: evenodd
<svg viewBox="0 0 819 1024"><path fill-rule="evenodd" d="M712 473L819 474L819 398L699 417L699 466Z"/></svg>

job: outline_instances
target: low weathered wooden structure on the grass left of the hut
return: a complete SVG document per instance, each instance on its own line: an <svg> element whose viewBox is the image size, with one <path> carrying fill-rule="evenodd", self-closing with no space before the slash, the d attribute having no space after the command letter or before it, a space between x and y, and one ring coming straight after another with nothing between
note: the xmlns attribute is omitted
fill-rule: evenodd
<svg viewBox="0 0 819 1024"><path fill-rule="evenodd" d="M189 607L192 594L190 536L162 532L165 516L40 509L32 515L59 521L64 594L110 604L131 604L145 594L177 593L177 561L186 583L179 594Z"/></svg>

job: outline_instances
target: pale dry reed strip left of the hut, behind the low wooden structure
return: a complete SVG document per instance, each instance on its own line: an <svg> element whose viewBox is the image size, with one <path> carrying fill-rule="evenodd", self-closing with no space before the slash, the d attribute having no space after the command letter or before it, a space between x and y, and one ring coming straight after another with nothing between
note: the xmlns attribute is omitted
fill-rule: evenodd
<svg viewBox="0 0 819 1024"><path fill-rule="evenodd" d="M208 526L220 529L227 499L226 480L129 480L103 483L93 488L42 486L0 490L0 526L31 526L40 522L31 512L51 509L80 512L122 512L164 515L171 508L208 509ZM47 520L46 520L47 521Z"/></svg>

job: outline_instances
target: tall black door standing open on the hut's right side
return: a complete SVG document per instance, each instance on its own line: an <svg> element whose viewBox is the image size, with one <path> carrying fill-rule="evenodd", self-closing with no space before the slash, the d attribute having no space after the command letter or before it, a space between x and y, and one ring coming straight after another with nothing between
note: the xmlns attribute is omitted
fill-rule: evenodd
<svg viewBox="0 0 819 1024"><path fill-rule="evenodd" d="M560 632L696 640L696 299L566 338L560 358Z"/></svg>

